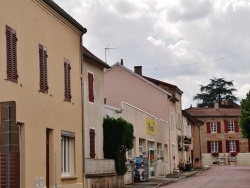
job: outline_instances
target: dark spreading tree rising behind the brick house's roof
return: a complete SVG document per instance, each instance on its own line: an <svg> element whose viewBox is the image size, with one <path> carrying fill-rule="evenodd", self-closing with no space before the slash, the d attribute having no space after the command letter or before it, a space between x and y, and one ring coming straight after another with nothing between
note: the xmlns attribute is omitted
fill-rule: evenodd
<svg viewBox="0 0 250 188"><path fill-rule="evenodd" d="M198 107L213 107L215 100L219 104L222 104L222 101L233 103L238 100L233 94L233 92L237 91L234 88L233 81L226 81L224 78L213 78L210 81L208 85L200 85L201 93L193 98L193 100L198 100Z"/></svg>

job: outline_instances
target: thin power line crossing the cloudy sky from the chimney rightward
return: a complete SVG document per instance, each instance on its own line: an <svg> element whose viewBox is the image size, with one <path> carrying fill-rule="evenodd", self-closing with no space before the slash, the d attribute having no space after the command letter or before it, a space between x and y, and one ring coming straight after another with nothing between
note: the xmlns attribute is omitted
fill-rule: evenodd
<svg viewBox="0 0 250 188"><path fill-rule="evenodd" d="M216 62L216 61L221 61L221 60L225 60L225 59L230 59L230 58L233 58L233 57L237 57L237 56L241 56L241 55L245 55L245 54L249 54L249 53L250 53L250 51L249 52L239 53L239 54L234 54L234 55L227 56L227 57L221 57L221 58L216 58L216 59L212 59L212 60L202 61L202 62L189 63L189 64L184 64L184 65L168 66L168 67L155 67L155 68L149 68L149 69L143 69L143 70L170 69L170 68L192 66L192 65L203 64L203 63L211 63L211 62Z"/></svg>

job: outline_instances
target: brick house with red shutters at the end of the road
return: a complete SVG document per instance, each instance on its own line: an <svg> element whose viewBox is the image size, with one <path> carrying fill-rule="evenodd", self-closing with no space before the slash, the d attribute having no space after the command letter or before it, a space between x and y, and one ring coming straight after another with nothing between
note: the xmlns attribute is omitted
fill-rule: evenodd
<svg viewBox="0 0 250 188"><path fill-rule="evenodd" d="M239 127L239 107L221 108L215 101L214 108L190 107L185 113L196 121L199 128L194 134L199 135L200 145L194 150L200 151L201 155L197 152L194 158L201 160L201 166L230 162L250 164L249 141L243 138Z"/></svg>

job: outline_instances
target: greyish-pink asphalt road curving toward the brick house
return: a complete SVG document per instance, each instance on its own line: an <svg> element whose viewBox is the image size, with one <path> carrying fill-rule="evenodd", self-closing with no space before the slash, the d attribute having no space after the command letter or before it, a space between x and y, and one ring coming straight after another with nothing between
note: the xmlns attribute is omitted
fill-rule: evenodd
<svg viewBox="0 0 250 188"><path fill-rule="evenodd" d="M162 188L250 188L250 166L216 165Z"/></svg>

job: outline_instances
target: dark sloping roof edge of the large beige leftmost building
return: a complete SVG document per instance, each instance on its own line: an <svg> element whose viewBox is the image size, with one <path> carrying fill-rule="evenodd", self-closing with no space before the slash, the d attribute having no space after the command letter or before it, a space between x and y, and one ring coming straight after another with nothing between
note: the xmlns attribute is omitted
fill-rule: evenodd
<svg viewBox="0 0 250 188"><path fill-rule="evenodd" d="M79 24L74 18L72 18L67 12L65 12L61 7L59 7L52 0L43 0L47 5L49 5L52 9L54 9L59 15L65 18L68 22L74 25L77 29L79 29L83 34L87 32L87 29L84 28L81 24Z"/></svg>

